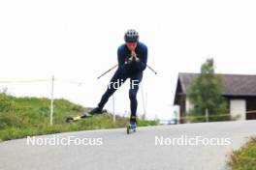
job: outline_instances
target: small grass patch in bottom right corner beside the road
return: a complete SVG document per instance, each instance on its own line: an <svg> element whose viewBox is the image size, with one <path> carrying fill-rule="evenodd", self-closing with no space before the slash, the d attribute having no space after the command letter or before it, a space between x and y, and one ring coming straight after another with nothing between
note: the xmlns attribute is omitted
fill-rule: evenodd
<svg viewBox="0 0 256 170"><path fill-rule="evenodd" d="M256 137L234 151L227 164L231 170L256 170Z"/></svg>

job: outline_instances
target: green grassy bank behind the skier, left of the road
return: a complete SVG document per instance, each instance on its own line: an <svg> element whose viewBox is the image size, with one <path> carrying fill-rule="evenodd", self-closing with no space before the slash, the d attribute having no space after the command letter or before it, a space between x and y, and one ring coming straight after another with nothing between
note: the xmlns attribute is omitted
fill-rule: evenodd
<svg viewBox="0 0 256 170"><path fill-rule="evenodd" d="M99 128L124 128L127 118L104 113L77 122L66 123L68 115L79 115L87 108L66 99L54 99L53 126L49 125L49 99L16 98L0 93L0 141L65 131ZM156 121L139 120L138 125L156 126Z"/></svg>

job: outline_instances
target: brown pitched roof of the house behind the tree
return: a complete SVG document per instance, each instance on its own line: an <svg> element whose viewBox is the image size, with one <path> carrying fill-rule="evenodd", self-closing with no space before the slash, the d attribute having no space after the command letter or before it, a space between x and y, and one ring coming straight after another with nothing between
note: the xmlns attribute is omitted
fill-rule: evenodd
<svg viewBox="0 0 256 170"><path fill-rule="evenodd" d="M178 79L183 93L199 73L178 73ZM223 96L256 96L256 75L247 74L217 74L222 82Z"/></svg>

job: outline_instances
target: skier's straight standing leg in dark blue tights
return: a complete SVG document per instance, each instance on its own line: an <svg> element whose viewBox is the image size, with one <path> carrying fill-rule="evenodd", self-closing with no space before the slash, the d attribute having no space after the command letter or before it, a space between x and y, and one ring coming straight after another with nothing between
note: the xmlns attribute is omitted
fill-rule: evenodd
<svg viewBox="0 0 256 170"><path fill-rule="evenodd" d="M138 72L131 76L130 80L130 90L129 90L129 99L131 106L131 122L136 122L136 113L137 113L137 93L139 90L140 83L143 79L143 72Z"/></svg>

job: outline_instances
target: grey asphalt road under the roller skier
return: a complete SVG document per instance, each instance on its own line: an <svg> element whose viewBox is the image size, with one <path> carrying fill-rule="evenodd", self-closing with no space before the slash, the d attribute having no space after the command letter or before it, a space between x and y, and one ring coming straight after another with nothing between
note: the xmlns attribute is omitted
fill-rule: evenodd
<svg viewBox="0 0 256 170"><path fill-rule="evenodd" d="M256 135L256 121L138 128L129 135L124 128L44 135L35 138L38 143L34 146L32 139L30 143L27 139L1 142L0 169L222 170L230 152L251 135ZM69 137L77 143L65 146ZM43 145L47 138L51 143L48 140ZM53 139L62 145L52 145ZM185 139L192 141L190 146L185 145Z"/></svg>

